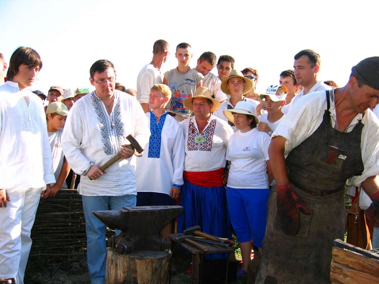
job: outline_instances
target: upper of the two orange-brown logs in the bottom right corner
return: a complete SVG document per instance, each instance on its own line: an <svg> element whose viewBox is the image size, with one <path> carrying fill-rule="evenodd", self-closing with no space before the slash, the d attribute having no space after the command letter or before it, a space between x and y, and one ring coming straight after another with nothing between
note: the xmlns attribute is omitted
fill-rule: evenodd
<svg viewBox="0 0 379 284"><path fill-rule="evenodd" d="M371 274L379 279L379 261L377 259L371 259L343 248L333 247L332 260L334 263Z"/></svg>

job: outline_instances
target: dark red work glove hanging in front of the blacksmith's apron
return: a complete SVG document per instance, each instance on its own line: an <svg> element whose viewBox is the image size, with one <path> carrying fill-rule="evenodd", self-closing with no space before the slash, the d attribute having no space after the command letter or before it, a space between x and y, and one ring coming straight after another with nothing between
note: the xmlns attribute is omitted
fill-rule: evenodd
<svg viewBox="0 0 379 284"><path fill-rule="evenodd" d="M280 225L286 235L296 236L300 231L300 212L310 215L311 212L304 201L296 195L291 184L277 186L277 213Z"/></svg>

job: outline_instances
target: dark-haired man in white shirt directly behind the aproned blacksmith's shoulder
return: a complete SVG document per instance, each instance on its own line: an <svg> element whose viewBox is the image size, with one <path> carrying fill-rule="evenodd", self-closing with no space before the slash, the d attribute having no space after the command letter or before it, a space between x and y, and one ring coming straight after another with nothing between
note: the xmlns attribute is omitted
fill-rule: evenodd
<svg viewBox="0 0 379 284"><path fill-rule="evenodd" d="M293 68L295 69L295 78L299 85L303 87L291 101L290 107L284 108L283 113L286 114L292 106L304 95L312 92L330 90L330 87L323 81L318 81L318 72L320 70L320 55L312 49L304 49L296 53ZM287 111L287 112L286 112Z"/></svg>

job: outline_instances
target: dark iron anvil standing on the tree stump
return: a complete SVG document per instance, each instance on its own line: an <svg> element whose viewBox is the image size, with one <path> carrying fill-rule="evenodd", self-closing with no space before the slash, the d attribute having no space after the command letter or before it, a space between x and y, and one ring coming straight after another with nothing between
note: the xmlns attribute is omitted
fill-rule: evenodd
<svg viewBox="0 0 379 284"><path fill-rule="evenodd" d="M108 238L106 245L125 254L171 248L159 231L182 212L182 206L138 206L92 213L105 225L121 230L119 235Z"/></svg>

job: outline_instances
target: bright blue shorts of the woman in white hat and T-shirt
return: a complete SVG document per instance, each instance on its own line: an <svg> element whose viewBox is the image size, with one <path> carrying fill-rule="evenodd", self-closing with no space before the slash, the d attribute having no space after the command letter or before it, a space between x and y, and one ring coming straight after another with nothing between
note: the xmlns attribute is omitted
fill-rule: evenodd
<svg viewBox="0 0 379 284"><path fill-rule="evenodd" d="M262 247L266 232L269 189L235 189L226 187L230 222L238 242L253 240Z"/></svg>

